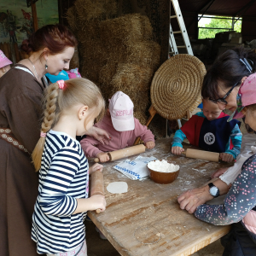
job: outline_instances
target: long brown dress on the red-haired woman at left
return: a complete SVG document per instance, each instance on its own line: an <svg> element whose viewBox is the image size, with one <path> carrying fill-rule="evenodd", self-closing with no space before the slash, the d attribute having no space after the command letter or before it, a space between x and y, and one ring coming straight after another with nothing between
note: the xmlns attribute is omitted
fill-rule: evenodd
<svg viewBox="0 0 256 256"><path fill-rule="evenodd" d="M29 71L20 64L15 67ZM39 139L46 85L15 67L0 79L0 128L9 128L32 153ZM31 239L37 196L38 173L30 155L0 138L0 256L38 255Z"/></svg>

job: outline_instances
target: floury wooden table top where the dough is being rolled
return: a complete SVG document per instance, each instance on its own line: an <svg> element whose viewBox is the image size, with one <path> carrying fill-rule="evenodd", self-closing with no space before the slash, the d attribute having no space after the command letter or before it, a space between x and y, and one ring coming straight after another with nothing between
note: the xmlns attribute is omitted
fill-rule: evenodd
<svg viewBox="0 0 256 256"><path fill-rule="evenodd" d="M225 164L173 155L171 142L171 139L159 139L154 149L141 154L172 160L179 165L179 176L171 184L154 183L149 178L133 181L113 169L117 162L104 164L107 209L99 214L89 212L88 215L121 255L186 256L218 240L230 230L230 226L202 222L181 210L177 203L178 195L207 183L210 174ZM128 192L109 193L106 189L108 183L116 181L125 181Z"/></svg>

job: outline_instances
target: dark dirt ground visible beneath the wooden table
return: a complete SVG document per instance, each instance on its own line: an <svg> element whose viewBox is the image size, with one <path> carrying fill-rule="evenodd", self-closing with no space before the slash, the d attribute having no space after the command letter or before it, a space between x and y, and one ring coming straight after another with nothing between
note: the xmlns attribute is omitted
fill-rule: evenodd
<svg viewBox="0 0 256 256"><path fill-rule="evenodd" d="M85 221L85 227L88 256L120 255L108 240L102 240L100 238L99 233L96 232L95 224L90 221ZM208 245L207 247L202 248L200 251L193 253L192 256L221 256L223 251L224 247L222 247L220 241L218 240L212 242L212 244Z"/></svg>

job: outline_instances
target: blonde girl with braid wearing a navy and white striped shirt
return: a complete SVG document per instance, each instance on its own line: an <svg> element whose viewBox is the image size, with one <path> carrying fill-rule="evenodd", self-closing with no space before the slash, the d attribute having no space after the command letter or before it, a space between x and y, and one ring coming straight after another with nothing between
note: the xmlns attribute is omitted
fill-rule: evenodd
<svg viewBox="0 0 256 256"><path fill-rule="evenodd" d="M49 85L45 95L41 137L32 153L39 171L38 198L32 216L32 240L38 253L87 255L84 218L100 208L102 195L88 198L89 174L102 170L88 162L76 136L83 136L101 119L105 102L101 91L87 79Z"/></svg>

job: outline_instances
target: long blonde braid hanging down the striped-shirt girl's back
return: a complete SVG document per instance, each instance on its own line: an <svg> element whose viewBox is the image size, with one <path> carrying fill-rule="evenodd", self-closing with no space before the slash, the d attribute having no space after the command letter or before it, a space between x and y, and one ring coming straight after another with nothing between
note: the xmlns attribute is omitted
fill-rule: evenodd
<svg viewBox="0 0 256 256"><path fill-rule="evenodd" d="M59 116L59 109L57 107L57 99L59 95L59 85L57 83L50 84L46 95L44 97L45 110L44 110L44 121L41 125L41 134L48 132L52 125L56 123ZM56 111L56 109L58 111ZM36 168L36 172L41 167L42 155L44 152L45 137L40 137L36 147L32 152L32 162Z"/></svg>

